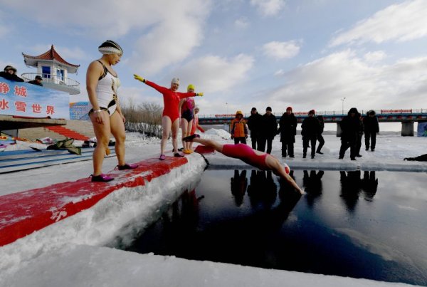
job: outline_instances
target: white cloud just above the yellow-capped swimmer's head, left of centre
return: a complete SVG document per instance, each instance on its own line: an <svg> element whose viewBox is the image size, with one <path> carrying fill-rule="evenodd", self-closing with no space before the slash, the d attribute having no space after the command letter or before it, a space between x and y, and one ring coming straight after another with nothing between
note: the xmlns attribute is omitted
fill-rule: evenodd
<svg viewBox="0 0 427 287"><path fill-rule="evenodd" d="M230 59L205 56L186 63L175 74L180 75L184 85L193 83L196 90L214 93L228 90L244 80L253 67L253 61L253 57L244 54Z"/></svg>

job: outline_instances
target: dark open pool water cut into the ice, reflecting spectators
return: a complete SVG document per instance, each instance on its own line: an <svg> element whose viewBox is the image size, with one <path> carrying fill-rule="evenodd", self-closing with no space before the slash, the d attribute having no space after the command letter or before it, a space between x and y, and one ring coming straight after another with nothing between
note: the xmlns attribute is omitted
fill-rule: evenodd
<svg viewBox="0 0 427 287"><path fill-rule="evenodd" d="M427 174L206 170L128 251L427 285Z"/></svg>

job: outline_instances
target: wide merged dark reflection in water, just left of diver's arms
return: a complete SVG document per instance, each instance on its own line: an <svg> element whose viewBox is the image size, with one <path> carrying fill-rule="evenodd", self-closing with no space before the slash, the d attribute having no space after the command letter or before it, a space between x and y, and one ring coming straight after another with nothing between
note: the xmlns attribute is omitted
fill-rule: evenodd
<svg viewBox="0 0 427 287"><path fill-rule="evenodd" d="M270 209L275 203L278 187L271 171L252 170L251 184L248 186L248 197L253 208Z"/></svg>

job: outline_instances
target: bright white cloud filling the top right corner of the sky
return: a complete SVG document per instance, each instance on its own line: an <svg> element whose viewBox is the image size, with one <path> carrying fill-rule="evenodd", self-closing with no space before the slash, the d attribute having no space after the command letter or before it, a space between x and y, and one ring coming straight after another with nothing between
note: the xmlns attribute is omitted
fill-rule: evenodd
<svg viewBox="0 0 427 287"><path fill-rule="evenodd" d="M413 0L394 4L338 33L330 46L352 43L410 41L427 36L427 1Z"/></svg>

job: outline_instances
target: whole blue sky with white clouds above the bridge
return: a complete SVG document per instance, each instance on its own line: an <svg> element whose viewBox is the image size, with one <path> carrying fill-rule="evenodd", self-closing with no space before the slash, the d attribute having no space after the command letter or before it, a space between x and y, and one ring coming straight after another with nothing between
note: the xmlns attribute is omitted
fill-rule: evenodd
<svg viewBox="0 0 427 287"><path fill-rule="evenodd" d="M0 0L0 67L36 72L21 53L53 44L85 73L111 39L122 102L162 96L138 73L179 90L193 83L201 114L427 108L427 1L391 0Z"/></svg>

